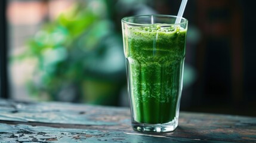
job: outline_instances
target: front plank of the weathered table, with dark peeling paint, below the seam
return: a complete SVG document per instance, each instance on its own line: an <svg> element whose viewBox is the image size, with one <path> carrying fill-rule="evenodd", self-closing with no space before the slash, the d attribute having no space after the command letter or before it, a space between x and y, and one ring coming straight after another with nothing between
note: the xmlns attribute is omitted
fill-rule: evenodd
<svg viewBox="0 0 256 143"><path fill-rule="evenodd" d="M205 142L206 140L175 138L142 133L101 130L50 128L44 126L1 124L0 139L5 142ZM164 138L163 138L164 137ZM217 142L217 141L211 141Z"/></svg>

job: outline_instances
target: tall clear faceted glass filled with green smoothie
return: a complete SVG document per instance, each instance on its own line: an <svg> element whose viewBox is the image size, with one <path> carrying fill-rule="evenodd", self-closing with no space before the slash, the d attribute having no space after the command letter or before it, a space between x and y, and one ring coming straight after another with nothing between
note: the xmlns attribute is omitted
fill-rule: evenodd
<svg viewBox="0 0 256 143"><path fill-rule="evenodd" d="M169 132L178 126L187 20L172 15L122 18L132 128Z"/></svg>

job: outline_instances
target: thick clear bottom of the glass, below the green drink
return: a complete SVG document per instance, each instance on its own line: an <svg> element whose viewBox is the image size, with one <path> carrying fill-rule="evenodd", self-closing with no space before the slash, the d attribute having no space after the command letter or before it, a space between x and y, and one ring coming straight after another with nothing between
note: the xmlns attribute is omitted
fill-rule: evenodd
<svg viewBox="0 0 256 143"><path fill-rule="evenodd" d="M177 126L177 120L163 124L132 123L132 128L140 132L172 132Z"/></svg>

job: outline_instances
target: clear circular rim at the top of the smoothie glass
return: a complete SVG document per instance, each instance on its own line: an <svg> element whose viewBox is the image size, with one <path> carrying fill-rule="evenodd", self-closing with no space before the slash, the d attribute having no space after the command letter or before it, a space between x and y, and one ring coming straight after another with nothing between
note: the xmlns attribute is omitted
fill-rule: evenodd
<svg viewBox="0 0 256 143"><path fill-rule="evenodd" d="M134 25L134 26L149 26L149 25L152 25L152 24L140 24L140 23L132 23L132 22L128 22L127 20L129 18L141 18L141 17L163 17L163 18L181 18L181 20L184 20L183 22L180 22L180 23L172 23L172 24L169 24L169 23L165 23L165 24L168 24L168 25L180 25L180 24L187 24L189 20L187 20L186 18L184 17L178 17L177 15L167 15L167 14L147 14L147 15L132 15L132 16L128 16L128 17L124 17L122 18L122 22L123 23L127 23L127 24L131 24L131 25ZM154 24L157 24L157 23L154 23Z"/></svg>

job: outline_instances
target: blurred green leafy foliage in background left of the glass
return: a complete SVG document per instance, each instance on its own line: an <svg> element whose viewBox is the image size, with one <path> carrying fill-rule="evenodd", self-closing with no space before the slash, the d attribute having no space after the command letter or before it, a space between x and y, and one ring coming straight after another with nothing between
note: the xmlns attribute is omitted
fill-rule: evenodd
<svg viewBox="0 0 256 143"><path fill-rule="evenodd" d="M125 85L125 58L107 5L109 1L76 1L29 40L18 58L36 61L27 82L31 95L39 100L117 104Z"/></svg>

